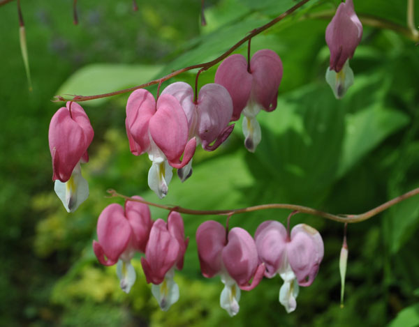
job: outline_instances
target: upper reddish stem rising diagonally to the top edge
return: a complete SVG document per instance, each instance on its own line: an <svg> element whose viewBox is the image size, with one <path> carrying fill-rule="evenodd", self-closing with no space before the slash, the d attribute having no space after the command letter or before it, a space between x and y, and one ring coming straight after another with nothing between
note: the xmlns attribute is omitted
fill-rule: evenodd
<svg viewBox="0 0 419 327"><path fill-rule="evenodd" d="M221 56L214 59L213 61L208 61L207 63L198 63L198 65L193 65L193 66L189 66L189 67L186 67L186 68L182 68L182 69L176 70L173 73L170 73L169 75L161 77L159 79L154 79L151 82L141 84L141 85L138 85L138 86L134 86L134 87L131 87L129 89L124 89L124 90L110 92L110 93L97 94L96 96L73 96L73 98L71 98L71 99L66 99L63 96L56 96L55 100L53 100L53 101L54 102L59 102L59 101L72 100L72 101L80 102L80 101L88 101L88 100L94 100L94 99L99 99L99 98L107 98L107 97L110 97L110 96L117 96L119 94L132 92L132 91L135 91L135 90L138 90L138 89L144 89L147 86L152 86L152 85L157 84L159 82L165 82L168 79L170 79L174 76L177 76L181 73L184 73L188 70L192 70L192 69L196 69L196 68L204 68L204 70L207 70L208 68L216 65L217 63L219 63L220 61L225 59L229 54L231 54L234 50L236 50L238 47L240 47L240 45L246 43L248 40L253 38L253 36L256 36L259 33L265 31L266 29L269 29L274 24L277 24L277 22L280 22L281 20L284 20L285 17L287 17L288 15L291 15L295 10L297 10L298 8L300 8L301 6L303 6L305 3L309 2L309 1L310 0L302 0L302 1L298 2L295 6L293 6L293 8L286 10L285 13L282 13L281 15L279 15L274 20L271 20L267 24L265 24L263 26L260 26L258 29L254 29L253 31L251 31L251 33L249 33L247 36L242 38L242 40L240 40L235 45L233 45L233 47L230 47L229 50L227 50L226 52L221 54Z"/></svg>

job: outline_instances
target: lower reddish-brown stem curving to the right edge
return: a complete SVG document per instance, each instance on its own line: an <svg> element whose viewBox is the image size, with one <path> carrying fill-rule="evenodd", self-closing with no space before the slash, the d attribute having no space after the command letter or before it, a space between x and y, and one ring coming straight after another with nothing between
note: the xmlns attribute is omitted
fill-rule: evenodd
<svg viewBox="0 0 419 327"><path fill-rule="evenodd" d="M309 215L316 215L321 218L326 218L330 220L334 220L335 222L344 222L344 223L355 223L355 222L362 222L369 218L374 217L374 215L378 215L382 211L390 208L390 206L394 206L405 199L409 199L409 197L413 197L414 195L419 194L419 188L415 188L409 192L404 193L404 195L399 195L399 197L395 197L390 201L387 201L376 208L373 208L365 213L361 213L360 215L334 215L332 213L326 213L324 211L319 211L314 208L309 208L307 206L298 206L296 204L260 204L258 206L249 206L247 208L240 208L240 209L232 209L232 210L193 210L188 208L182 208L181 206L166 206L165 204L155 204L153 202L140 200L140 199L131 199L131 197L127 197L126 195L119 194L115 190L108 190L110 197L122 197L128 201L137 201L149 206L155 206L157 208L166 209L169 211L176 211L178 213L187 213L189 215L233 215L236 213L249 213L252 211L259 211L259 210L266 210L266 209L288 209L292 211L297 211L299 213L308 213Z"/></svg>

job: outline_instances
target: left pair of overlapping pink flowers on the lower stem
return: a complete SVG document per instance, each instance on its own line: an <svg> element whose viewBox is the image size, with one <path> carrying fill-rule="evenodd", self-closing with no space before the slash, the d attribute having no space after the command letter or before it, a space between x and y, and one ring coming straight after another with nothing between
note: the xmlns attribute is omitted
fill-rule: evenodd
<svg viewBox="0 0 419 327"><path fill-rule="evenodd" d="M142 199L134 196L133 199ZM98 242L93 241L94 254L105 266L117 263L121 289L128 293L135 282L131 259L135 252L145 253L142 269L152 294L166 311L179 299L179 287L173 281L175 268L182 269L188 239L179 213L171 212L166 223L151 219L149 207L138 201L126 201L125 208L110 204L98 218Z"/></svg>

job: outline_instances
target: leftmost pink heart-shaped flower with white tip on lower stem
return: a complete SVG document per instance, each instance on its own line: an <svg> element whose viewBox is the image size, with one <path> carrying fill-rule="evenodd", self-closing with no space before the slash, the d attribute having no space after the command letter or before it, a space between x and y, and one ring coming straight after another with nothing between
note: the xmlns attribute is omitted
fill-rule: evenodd
<svg viewBox="0 0 419 327"><path fill-rule="evenodd" d="M134 196L133 199L142 199ZM145 252L153 221L149 207L137 201L126 201L125 208L110 204L98 218L98 242L93 241L94 254L105 266L117 264L121 289L128 293L135 282L131 259L135 252Z"/></svg>

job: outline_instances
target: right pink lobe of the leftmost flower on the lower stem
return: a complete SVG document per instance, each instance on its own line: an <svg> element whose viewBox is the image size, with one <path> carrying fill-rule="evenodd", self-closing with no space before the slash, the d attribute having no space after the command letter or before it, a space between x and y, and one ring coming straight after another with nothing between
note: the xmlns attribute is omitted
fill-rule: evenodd
<svg viewBox="0 0 419 327"><path fill-rule="evenodd" d="M137 195L132 198L142 199ZM145 245L147 245L150 229L153 225L149 206L136 201L126 201L125 216L133 231L133 247L135 250L145 252Z"/></svg>

